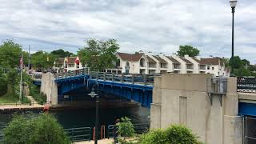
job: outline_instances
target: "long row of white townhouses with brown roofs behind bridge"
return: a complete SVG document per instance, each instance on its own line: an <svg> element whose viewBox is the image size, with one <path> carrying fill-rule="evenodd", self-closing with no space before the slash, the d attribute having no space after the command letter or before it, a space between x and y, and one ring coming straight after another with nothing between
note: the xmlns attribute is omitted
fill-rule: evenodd
<svg viewBox="0 0 256 144"><path fill-rule="evenodd" d="M229 76L222 58L192 58L188 55L153 55L150 53L117 53L119 69L126 74L214 74Z"/></svg>

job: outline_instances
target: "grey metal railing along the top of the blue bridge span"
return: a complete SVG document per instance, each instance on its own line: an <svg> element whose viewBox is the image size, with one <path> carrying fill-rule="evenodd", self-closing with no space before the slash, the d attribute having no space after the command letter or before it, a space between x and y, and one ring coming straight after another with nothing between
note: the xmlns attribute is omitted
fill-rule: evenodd
<svg viewBox="0 0 256 144"><path fill-rule="evenodd" d="M110 82L122 82L131 84L142 84L142 85L154 85L154 76L160 74L117 74L117 73L106 73L106 72L94 72L90 71L89 68L80 70L70 70L55 74L56 79L70 78L74 76L89 75L90 79L110 81Z"/></svg>

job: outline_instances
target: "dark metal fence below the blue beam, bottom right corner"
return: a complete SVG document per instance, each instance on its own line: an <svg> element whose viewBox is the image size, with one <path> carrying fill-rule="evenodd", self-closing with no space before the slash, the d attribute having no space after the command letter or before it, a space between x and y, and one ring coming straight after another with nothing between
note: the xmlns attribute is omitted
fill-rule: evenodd
<svg viewBox="0 0 256 144"><path fill-rule="evenodd" d="M243 118L243 143L256 143L256 118L244 116Z"/></svg>

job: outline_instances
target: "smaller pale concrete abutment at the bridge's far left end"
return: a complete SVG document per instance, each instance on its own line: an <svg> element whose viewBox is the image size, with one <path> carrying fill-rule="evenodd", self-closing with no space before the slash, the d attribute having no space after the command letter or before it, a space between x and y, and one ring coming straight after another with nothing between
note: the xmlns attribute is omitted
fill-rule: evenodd
<svg viewBox="0 0 256 144"><path fill-rule="evenodd" d="M54 82L54 74L42 74L42 85L40 91L41 93L46 94L47 102L51 102L52 105L58 104L58 87L56 82Z"/></svg>

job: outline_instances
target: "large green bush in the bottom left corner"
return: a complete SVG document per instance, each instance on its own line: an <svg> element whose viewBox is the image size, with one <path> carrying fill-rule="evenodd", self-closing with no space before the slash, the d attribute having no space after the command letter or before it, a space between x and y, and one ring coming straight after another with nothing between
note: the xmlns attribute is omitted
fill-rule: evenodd
<svg viewBox="0 0 256 144"><path fill-rule="evenodd" d="M4 129L5 144L70 144L64 129L51 114L15 115Z"/></svg>

